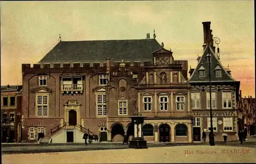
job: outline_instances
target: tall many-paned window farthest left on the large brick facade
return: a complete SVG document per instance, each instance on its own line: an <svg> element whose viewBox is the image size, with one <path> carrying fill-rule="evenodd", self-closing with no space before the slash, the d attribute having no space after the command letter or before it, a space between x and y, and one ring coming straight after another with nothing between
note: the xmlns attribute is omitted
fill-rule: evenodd
<svg viewBox="0 0 256 164"><path fill-rule="evenodd" d="M37 116L48 116L48 96L47 95L37 95Z"/></svg>

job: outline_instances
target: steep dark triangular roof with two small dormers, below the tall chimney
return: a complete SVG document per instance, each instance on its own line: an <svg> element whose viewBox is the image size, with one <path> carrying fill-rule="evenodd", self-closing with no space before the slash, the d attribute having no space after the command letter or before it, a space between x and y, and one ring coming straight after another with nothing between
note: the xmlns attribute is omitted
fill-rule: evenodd
<svg viewBox="0 0 256 164"><path fill-rule="evenodd" d="M204 49L203 56L200 58L196 69L191 74L190 78L188 79L189 82L207 82L209 81L209 64L207 62L206 56L208 54L209 46ZM210 54L211 54L211 65L210 65L210 72L211 72L211 81L236 81L236 79L232 78L231 75L224 69L221 62L218 60L215 52L212 50L210 46ZM205 69L205 77L199 77L199 69L203 67ZM221 70L221 77L216 77L215 69L218 68Z"/></svg>

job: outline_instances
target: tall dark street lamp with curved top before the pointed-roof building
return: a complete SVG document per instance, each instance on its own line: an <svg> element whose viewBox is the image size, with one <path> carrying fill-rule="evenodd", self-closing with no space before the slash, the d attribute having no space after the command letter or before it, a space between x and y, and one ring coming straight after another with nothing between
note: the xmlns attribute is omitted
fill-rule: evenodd
<svg viewBox="0 0 256 164"><path fill-rule="evenodd" d="M210 90L210 133L209 133L209 143L210 146L215 146L215 140L214 140L214 128L212 127L212 109L211 109L211 80L210 80L210 62L211 62L211 55L210 55L210 42L211 41L215 41L215 43L218 45L217 48L217 58L220 59L220 48L219 48L219 43L221 42L221 40L217 37L212 38L211 40L209 40L208 42L208 54L206 56L206 58L208 58L208 63L209 63L209 90ZM207 60L207 59L206 59Z"/></svg>

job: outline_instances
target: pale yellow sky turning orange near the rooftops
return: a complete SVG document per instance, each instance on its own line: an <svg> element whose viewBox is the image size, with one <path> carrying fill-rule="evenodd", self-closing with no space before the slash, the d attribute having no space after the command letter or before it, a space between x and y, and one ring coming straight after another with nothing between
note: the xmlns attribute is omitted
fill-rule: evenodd
<svg viewBox="0 0 256 164"><path fill-rule="evenodd" d="M22 64L35 64L58 42L145 39L195 68L203 24L211 21L221 63L255 96L253 1L1 1L1 85L22 85ZM86 61L84 61L86 62Z"/></svg>

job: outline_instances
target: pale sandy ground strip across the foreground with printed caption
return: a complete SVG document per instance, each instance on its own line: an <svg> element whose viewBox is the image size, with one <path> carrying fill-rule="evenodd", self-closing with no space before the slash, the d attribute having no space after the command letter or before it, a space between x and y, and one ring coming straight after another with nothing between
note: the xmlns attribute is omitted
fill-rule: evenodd
<svg viewBox="0 0 256 164"><path fill-rule="evenodd" d="M175 163L256 162L255 147L176 146L148 149L6 154L2 163Z"/></svg>

